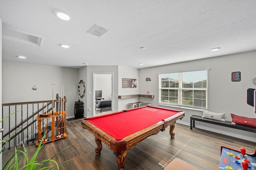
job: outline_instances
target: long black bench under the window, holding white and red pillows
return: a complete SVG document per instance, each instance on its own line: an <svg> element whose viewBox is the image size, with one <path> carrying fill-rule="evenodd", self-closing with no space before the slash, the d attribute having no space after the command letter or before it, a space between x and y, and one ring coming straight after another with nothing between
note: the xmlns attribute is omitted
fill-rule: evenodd
<svg viewBox="0 0 256 170"><path fill-rule="evenodd" d="M198 116L198 115L190 116L190 129L191 130L193 130L193 127L195 127L195 121L202 121L202 122L205 122L205 123L211 123L211 124L214 124L214 125L231 127L231 128L234 128L234 129L239 129L239 130L243 130L243 131L256 133L256 127L240 125L240 124L232 124L230 121L218 121L218 120L214 120L214 119L207 119L207 118L203 118L203 117Z"/></svg>

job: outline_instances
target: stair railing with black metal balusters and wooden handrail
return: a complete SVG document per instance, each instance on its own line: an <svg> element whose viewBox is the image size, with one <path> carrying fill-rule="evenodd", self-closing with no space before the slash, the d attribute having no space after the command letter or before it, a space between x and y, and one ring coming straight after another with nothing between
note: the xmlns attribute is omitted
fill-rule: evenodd
<svg viewBox="0 0 256 170"><path fill-rule="evenodd" d="M64 111L66 110L66 96L64 96ZM36 120L39 114L51 113L52 111L59 111L60 97L56 95L56 100L44 100L34 102L19 102L19 103L5 103L2 104L2 139L8 141L8 149L11 147L33 144L37 140L37 125ZM56 107L55 107L56 106ZM62 106L63 107L63 106ZM48 120L47 120L48 121ZM50 123L49 123L50 124ZM47 125L49 125L47 123ZM50 132L51 127L42 127ZM44 131L44 130L42 130ZM4 147L5 143L2 143Z"/></svg>

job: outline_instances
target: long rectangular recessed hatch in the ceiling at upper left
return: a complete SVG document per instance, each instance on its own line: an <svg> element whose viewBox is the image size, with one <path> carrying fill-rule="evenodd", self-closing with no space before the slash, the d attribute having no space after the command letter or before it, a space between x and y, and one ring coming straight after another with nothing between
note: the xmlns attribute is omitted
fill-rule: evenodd
<svg viewBox="0 0 256 170"><path fill-rule="evenodd" d="M40 37L38 35L33 35L30 33L25 33L22 31L18 31L18 30L6 28L6 27L2 27L2 38L10 41L33 44L38 46L42 45L42 40L43 40L43 37Z"/></svg>

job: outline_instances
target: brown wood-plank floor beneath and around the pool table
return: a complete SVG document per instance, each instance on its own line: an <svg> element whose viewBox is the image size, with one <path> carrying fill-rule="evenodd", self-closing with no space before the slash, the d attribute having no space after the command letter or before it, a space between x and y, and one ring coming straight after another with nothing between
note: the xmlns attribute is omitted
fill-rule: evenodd
<svg viewBox="0 0 256 170"><path fill-rule="evenodd" d="M54 160L68 163L61 170L116 170L116 156L102 143L100 156L95 155L94 136L83 129L81 119L69 121L68 138L46 143L40 150L37 160L51 158L61 149L72 145L58 154ZM244 147L247 153L254 152L256 143L220 135L202 129L176 123L175 139L170 139L169 127L166 131L148 137L127 154L125 170L163 170L174 158L180 158L201 170L218 170L220 146L234 149ZM33 145L34 146L34 145ZM28 146L31 148L32 146ZM37 147L29 151L32 156ZM13 151L4 150L2 164Z"/></svg>

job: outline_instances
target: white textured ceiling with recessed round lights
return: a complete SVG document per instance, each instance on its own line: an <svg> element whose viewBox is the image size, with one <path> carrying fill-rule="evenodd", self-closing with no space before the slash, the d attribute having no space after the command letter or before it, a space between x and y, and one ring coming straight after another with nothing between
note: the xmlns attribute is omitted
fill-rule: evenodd
<svg viewBox="0 0 256 170"><path fill-rule="evenodd" d="M0 0L0 18L6 61L146 68L256 50L256 0ZM95 24L109 31L87 33ZM9 39L5 28L42 44Z"/></svg>

